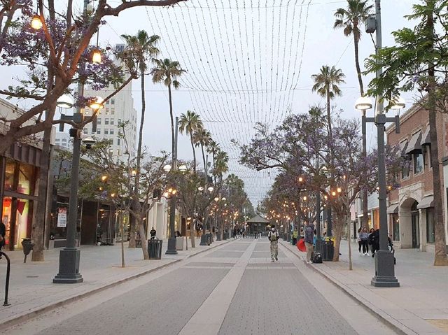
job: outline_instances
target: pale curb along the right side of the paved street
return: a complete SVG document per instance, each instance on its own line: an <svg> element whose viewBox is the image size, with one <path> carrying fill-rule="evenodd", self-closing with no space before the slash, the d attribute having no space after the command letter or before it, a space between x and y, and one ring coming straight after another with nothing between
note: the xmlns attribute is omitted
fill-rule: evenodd
<svg viewBox="0 0 448 335"><path fill-rule="evenodd" d="M302 261L304 260L296 252L293 252L293 250L290 250L290 248L288 248L287 245L284 245L284 243L281 243L281 245L283 245L284 248L286 248L289 252L291 252L293 255L295 255L300 260L302 260ZM325 278L330 283L332 283L332 285L335 285L335 287L342 290L342 292L344 292L348 297L350 297L351 299L356 301L356 303L358 303L360 306L363 306L363 308L365 308L367 311L372 312L375 318L377 318L381 322L384 322L384 324L386 324L388 327L391 327L393 329L393 331L397 332L398 334L402 334L402 335L418 335L418 333L414 332L412 329L409 329L408 327L403 325L401 322L398 322L394 318L391 318L390 315L388 315L387 313L384 313L383 311L381 311L381 309L368 303L367 301L362 299L362 297L359 297L358 294L356 294L355 292L350 290L349 287L346 287L346 285L344 285L343 283L340 283L338 280L336 280L335 278L330 276L328 273L319 269L318 266L311 266L309 264L307 264L307 266L310 269L313 269L314 271L319 273L321 276L323 276L323 278Z"/></svg>

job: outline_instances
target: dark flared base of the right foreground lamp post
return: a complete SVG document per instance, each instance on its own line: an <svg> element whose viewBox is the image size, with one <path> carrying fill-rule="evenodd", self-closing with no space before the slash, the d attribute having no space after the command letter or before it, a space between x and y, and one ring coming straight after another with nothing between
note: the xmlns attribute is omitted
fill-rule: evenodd
<svg viewBox="0 0 448 335"><path fill-rule="evenodd" d="M388 250L375 252L375 276L370 284L374 287L400 287L395 278L393 253Z"/></svg>

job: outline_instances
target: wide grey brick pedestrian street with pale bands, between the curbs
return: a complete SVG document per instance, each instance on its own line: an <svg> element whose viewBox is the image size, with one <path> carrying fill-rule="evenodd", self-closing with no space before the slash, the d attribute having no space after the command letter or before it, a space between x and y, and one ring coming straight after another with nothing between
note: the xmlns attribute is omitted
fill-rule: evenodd
<svg viewBox="0 0 448 335"><path fill-rule="evenodd" d="M239 239L127 280L20 325L15 335L393 335L371 313L281 246Z"/></svg>

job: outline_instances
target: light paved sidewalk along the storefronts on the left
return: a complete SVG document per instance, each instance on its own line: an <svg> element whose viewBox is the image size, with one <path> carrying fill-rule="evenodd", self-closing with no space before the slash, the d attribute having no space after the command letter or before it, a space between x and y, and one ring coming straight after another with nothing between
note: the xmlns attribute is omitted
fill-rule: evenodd
<svg viewBox="0 0 448 335"><path fill-rule="evenodd" d="M0 325L14 325L43 311L62 306L87 294L118 285L125 280L143 276L169 264L216 248L228 241L201 246L196 239L196 248L178 251L179 255L165 255L167 241L162 243L162 259L143 260L141 248L129 249L125 243L125 268L121 267L121 245L88 245L80 248L80 273L84 282L80 284L53 284L52 279L59 269L59 250L45 250L45 262L23 263L22 250L6 252L11 259L9 298L10 306L3 305L6 278L6 259L0 260ZM190 244L190 243L189 243Z"/></svg>

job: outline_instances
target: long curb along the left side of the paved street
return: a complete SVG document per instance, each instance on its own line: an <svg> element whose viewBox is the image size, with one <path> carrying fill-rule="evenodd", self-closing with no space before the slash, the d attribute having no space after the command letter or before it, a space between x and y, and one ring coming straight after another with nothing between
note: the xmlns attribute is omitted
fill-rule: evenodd
<svg viewBox="0 0 448 335"><path fill-rule="evenodd" d="M72 303L74 301L77 301L79 299L83 299L83 298L85 298L87 296L90 296L91 294L96 294L96 293L102 292L104 290L108 290L111 287L115 287L115 286L118 286L120 284L123 284L123 283L127 282L127 280L137 279L137 278L140 278L142 276L147 275L148 273L155 272L155 271L158 271L160 269L164 269L167 266L171 266L171 265L176 264L178 262L182 262L182 261L184 261L186 259L189 259L190 257L194 257L196 255L201 254L202 252L206 252L206 251L209 251L211 249L217 248L217 247L219 247L221 245L224 245L225 243L228 243L228 242L229 241L221 243L220 245L210 246L210 248L207 248L207 249L204 249L204 250L200 250L200 251L196 252L195 254L188 255L185 258L174 259L172 262L169 262L167 264L163 264L163 265L160 265L160 266L156 266L153 269L149 269L149 270L146 270L146 271L143 271L143 272L140 272L140 273L136 273L136 274L134 274L134 275L132 275L130 277L123 278L123 279L120 279L120 280L116 280L113 283L109 283L109 284L106 284L104 286L97 287L97 288L95 288L93 290L90 290L90 291L87 291L87 292L83 292L83 293L78 294L76 296L56 301L55 303L49 304L47 306L43 306L41 308L36 308L34 311L29 311L29 312L24 313L22 315L18 315L18 316L14 317L14 318L12 318L10 320L6 320L1 325L2 325L3 329L7 329L7 328L10 328L10 327L13 327L15 325L18 325L20 322L24 322L26 320L30 320L32 318L36 318L36 316L38 316L39 314L42 314L42 313L45 313L45 312L48 312L48 311L52 311L53 309L62 307L64 305L66 305L66 304L70 304L70 303Z"/></svg>

